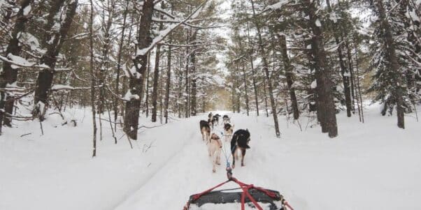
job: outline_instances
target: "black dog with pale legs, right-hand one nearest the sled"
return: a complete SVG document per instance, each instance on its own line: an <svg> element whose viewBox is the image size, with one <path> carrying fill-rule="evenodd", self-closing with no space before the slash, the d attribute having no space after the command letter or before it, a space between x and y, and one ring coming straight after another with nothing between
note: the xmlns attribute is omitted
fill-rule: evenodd
<svg viewBox="0 0 421 210"><path fill-rule="evenodd" d="M250 149L248 146L250 142L250 132L248 129L237 130L231 139L231 153L232 153L232 168L235 167L237 157L237 150L241 150L241 166L244 166L245 149Z"/></svg>

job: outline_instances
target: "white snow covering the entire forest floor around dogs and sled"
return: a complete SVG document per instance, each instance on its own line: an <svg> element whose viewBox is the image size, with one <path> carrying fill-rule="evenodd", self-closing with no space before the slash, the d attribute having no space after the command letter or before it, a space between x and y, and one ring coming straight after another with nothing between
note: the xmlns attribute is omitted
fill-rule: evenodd
<svg viewBox="0 0 421 210"><path fill-rule="evenodd" d="M297 210L421 209L421 123L408 116L401 130L395 116L380 116L376 105L368 109L364 124L338 114L335 139L306 117L303 131L281 117L277 139L271 118L219 112L251 133L245 167L236 167L234 177L280 191ZM182 209L190 195L226 180L224 163L212 173L201 140L205 115L143 128L134 149L121 129L114 144L104 121L98 156L91 158L89 113L67 113L76 127L62 126L53 114L44 135L35 121L4 129L0 209ZM144 118L141 124L158 125Z"/></svg>

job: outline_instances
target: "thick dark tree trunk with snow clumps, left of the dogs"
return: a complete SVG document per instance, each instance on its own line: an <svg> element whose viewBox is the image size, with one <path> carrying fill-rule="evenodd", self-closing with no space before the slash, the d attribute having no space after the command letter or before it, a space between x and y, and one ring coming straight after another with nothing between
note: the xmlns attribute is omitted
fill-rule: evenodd
<svg viewBox="0 0 421 210"><path fill-rule="evenodd" d="M143 1L142 17L139 25L138 49L136 49L136 57L134 59L135 75L129 77L129 91L131 100L126 103L124 112L124 132L132 140L137 140L139 111L141 109L141 90L143 89L143 78L145 77L146 65L148 63L148 55L144 52L138 52L148 47L152 43L150 38L150 26L152 24L154 1Z"/></svg>

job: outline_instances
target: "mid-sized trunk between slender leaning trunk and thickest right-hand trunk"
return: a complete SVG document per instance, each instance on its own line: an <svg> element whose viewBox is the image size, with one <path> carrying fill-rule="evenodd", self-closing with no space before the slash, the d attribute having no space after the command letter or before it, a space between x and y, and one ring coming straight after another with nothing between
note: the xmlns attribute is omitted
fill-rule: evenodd
<svg viewBox="0 0 421 210"><path fill-rule="evenodd" d="M279 36L280 40L280 47L281 47L281 54L283 57L283 64L285 68L285 76L287 77L287 85L288 90L290 91L290 99L292 103L292 112L294 114L294 119L299 118L299 109L297 103L297 96L295 96L295 89L293 87L294 84L294 73L292 73L293 66L291 65L290 57L288 57L287 53L287 38L285 35Z"/></svg>

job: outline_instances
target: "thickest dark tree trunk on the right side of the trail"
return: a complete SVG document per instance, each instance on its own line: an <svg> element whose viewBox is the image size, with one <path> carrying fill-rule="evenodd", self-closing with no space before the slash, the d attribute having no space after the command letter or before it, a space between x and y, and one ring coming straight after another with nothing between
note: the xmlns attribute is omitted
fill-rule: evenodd
<svg viewBox="0 0 421 210"><path fill-rule="evenodd" d="M324 41L319 17L316 15L317 1L306 0L309 24L313 31L311 49L315 60L317 80L317 112L320 113L320 124L322 131L327 131L329 137L338 135L336 124L336 110L332 91L332 82L329 76L331 70L327 68L326 53L324 52Z"/></svg>

